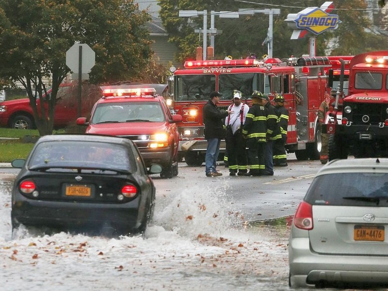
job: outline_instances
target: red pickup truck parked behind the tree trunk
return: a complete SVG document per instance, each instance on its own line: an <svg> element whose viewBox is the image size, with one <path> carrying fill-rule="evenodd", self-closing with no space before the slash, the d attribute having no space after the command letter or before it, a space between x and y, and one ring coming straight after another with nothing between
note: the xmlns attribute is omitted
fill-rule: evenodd
<svg viewBox="0 0 388 291"><path fill-rule="evenodd" d="M47 90L48 95L43 96L45 109L48 110L48 100L51 97L51 88ZM101 97L98 86L83 86L82 92L82 115L89 115L93 104ZM61 84L57 94L57 105L54 113L54 128L64 128L77 119L78 113L78 85L71 83ZM36 100L39 108L41 100ZM13 129L33 129L35 122L29 98L6 100L0 102L0 127Z"/></svg>

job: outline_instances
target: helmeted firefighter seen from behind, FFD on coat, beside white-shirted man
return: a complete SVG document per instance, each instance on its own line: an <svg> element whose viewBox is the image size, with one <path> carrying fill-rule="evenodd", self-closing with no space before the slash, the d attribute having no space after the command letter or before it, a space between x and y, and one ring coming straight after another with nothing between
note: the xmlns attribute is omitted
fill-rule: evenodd
<svg viewBox="0 0 388 291"><path fill-rule="evenodd" d="M263 106L263 94L252 94L252 107L245 117L242 134L246 137L248 147L249 173L244 176L265 175L265 145L267 134L267 110Z"/></svg>

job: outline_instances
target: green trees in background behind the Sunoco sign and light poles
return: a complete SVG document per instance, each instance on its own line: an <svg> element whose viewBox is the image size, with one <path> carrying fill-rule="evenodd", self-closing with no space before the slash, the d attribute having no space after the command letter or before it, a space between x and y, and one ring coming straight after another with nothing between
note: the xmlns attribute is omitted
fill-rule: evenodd
<svg viewBox="0 0 388 291"><path fill-rule="evenodd" d="M194 29L203 28L203 17L178 17L179 10L207 10L208 29L210 28L210 11L238 11L249 9L280 9L280 15L273 16L273 56L286 58L291 55L302 56L309 53L308 39L312 34L299 40L291 40L292 29L284 21L289 14L297 14L307 7L320 7L324 1L302 0L290 3L289 0L267 0L267 4L255 4L252 1L217 1L217 0L159 0L162 8L163 25L170 34L169 41L178 47L177 61L195 58L195 48L202 46L202 38ZM335 10L342 21L334 31L325 31L317 35L317 55L351 55L367 50L387 47L386 37L365 28L371 27L366 17L365 0L334 0ZM364 10L363 10L364 9ZM215 36L215 58L223 59L231 55L234 59L245 58L248 51L258 57L267 54L267 45L262 46L266 38L269 16L259 13L251 16L240 15L240 18L214 17L214 27L222 30ZM209 45L209 41L208 41Z"/></svg>

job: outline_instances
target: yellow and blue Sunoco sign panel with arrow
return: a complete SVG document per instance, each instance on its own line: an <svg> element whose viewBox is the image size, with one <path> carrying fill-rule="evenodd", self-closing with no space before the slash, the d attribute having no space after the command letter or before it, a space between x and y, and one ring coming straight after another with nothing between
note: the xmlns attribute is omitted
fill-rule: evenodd
<svg viewBox="0 0 388 291"><path fill-rule="evenodd" d="M320 34L328 29L337 29L338 24L341 23L338 15L328 14L322 9L302 14L294 21L298 29L306 29L314 34Z"/></svg>

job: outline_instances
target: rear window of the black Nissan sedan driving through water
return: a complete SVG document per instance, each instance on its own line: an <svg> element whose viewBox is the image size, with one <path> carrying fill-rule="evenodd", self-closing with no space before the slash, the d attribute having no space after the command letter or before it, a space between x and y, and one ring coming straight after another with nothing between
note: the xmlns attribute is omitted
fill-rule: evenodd
<svg viewBox="0 0 388 291"><path fill-rule="evenodd" d="M127 146L84 141L51 141L34 149L29 168L99 168L133 172L135 160Z"/></svg>

